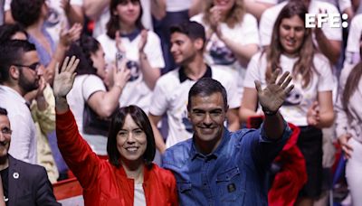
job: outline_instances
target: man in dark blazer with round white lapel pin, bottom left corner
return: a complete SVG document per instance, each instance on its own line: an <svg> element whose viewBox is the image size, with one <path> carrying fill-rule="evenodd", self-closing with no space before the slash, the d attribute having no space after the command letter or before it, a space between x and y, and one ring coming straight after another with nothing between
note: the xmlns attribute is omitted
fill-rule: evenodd
<svg viewBox="0 0 362 206"><path fill-rule="evenodd" d="M0 205L60 205L42 166L8 154L12 133L7 111L0 108Z"/></svg>

